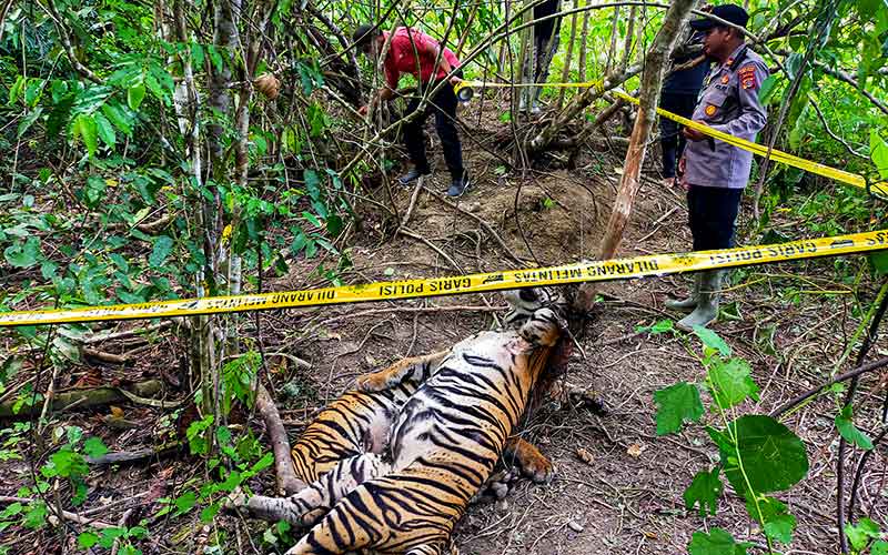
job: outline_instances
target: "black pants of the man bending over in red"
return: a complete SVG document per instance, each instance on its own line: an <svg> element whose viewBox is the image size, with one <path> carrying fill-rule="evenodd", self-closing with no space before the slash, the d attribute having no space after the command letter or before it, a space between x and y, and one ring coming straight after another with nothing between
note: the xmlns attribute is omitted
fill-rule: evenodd
<svg viewBox="0 0 888 555"><path fill-rule="evenodd" d="M461 75L461 73L457 72L456 75ZM414 98L407 104L407 113L416 111L416 107L420 105L422 90L434 90L440 82L441 81L432 80L428 83L423 83L420 97ZM422 113L404 125L404 145L407 148L411 162L416 164L416 169L422 173L428 173L431 171L428 168L428 159L425 157L425 133L423 133L423 127L428 115L434 113L435 130L437 131L438 138L441 138L444 160L447 162L451 176L453 176L453 179L464 176L463 149L460 144L460 134L456 132L457 103L458 100L453 92L453 85L446 83L437 93L428 99Z"/></svg>

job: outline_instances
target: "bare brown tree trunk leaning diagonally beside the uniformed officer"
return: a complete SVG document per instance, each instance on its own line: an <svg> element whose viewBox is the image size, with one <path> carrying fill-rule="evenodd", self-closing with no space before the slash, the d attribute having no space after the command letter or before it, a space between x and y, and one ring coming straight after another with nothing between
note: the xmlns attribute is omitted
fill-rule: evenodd
<svg viewBox="0 0 888 555"><path fill-rule="evenodd" d="M678 31L688 13L690 13L695 1L675 0L673 2L666 12L663 27L657 32L654 43L647 52L642 75L642 102L632 137L629 138L629 148L626 152L626 162L623 167L623 178L619 182L617 198L614 201L614 209L607 222L604 239L602 239L598 252L599 260L614 258L623 240L623 231L629 221L635 195L638 193L640 185L642 164L645 160L647 144L650 141L650 130L656 119L657 102L659 101L663 73L668 61L668 54L675 46ZM595 302L596 292L597 286L595 284L584 283L574 301L574 309L581 312L588 312Z"/></svg>

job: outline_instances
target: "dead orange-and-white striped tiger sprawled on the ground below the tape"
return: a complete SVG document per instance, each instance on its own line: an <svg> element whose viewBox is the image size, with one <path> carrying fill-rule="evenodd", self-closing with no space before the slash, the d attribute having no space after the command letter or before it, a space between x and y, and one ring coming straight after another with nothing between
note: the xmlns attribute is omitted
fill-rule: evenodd
<svg viewBox="0 0 888 555"><path fill-rule="evenodd" d="M542 304L538 295L508 295L517 305L511 320ZM542 307L517 332L483 332L362 376L359 392L319 415L293 450L297 473L312 484L287 498L254 496L248 506L297 525L323 516L292 554L452 553L451 531L501 455L535 480L552 470L534 446L509 436L562 330Z"/></svg>

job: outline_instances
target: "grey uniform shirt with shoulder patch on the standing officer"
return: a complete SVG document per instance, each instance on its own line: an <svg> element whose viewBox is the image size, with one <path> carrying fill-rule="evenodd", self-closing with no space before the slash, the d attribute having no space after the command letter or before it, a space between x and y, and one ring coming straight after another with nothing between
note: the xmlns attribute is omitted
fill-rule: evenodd
<svg viewBox="0 0 888 555"><path fill-rule="evenodd" d="M758 101L767 77L768 67L761 57L741 44L709 73L693 120L755 141L767 122L767 112ZM751 152L717 139L688 141L685 149L685 181L692 185L744 189L751 168Z"/></svg>

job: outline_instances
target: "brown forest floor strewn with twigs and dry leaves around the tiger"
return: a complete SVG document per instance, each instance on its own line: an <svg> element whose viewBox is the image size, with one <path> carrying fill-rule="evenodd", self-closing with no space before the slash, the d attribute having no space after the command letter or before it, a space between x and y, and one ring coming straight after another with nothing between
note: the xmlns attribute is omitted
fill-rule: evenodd
<svg viewBox="0 0 888 555"><path fill-rule="evenodd" d="M515 256L525 259L526 266L567 263L595 252L609 214L623 153L586 154L572 171L507 174L497 155L481 148L494 149L495 133L491 130L507 130L507 124L491 120L476 128L474 117L471 120L470 130L464 133L471 135L465 140L465 158L474 185L453 203L458 209L441 196L448 184L447 175L438 150L433 149L438 171L426 179L427 189L421 191L405 226L407 233L391 238L391 229L382 229L382 220L369 216L365 231L352 235L350 255L354 268L343 274L344 282L517 266L475 218L490 224ZM656 150L652 154L622 256L689 250L683 193L658 184L657 164L650 162L656 159ZM394 185L392 190L403 214L413 191ZM385 192L380 189L373 194L384 199ZM748 213L745 209L741 216L740 243L759 239L748 231ZM781 224L791 222L771 222ZM387 239L383 241L384 235ZM320 285L316 278L306 278L316 263L295 262L286 276L269 280L266 289ZM741 405L740 413L767 413L823 383L833 371L859 321L859 311L852 305L851 295L841 294L849 292L849 286L830 279L835 274L831 269L833 261L827 260L734 273L734 286L726 293L724 307L739 317L722 317L713 329L735 354L749 362L761 389L760 402ZM673 334L652 336L636 332L636 327L675 319L675 314L664 312L663 301L670 292L686 291L687 284L685 278L670 276L603 286L605 300L598 303L585 334L577 337L582 349L574 350L563 389L596 392L604 400L606 413L573 408L569 403L544 405L524 434L555 463L554 480L544 485L521 483L504 502L473 506L457 527L461 553L678 554L686 553L693 532L714 526L729 531L738 539L764 543L763 534L733 492L723 496L715 517L703 518L685 511L685 487L695 473L710 468L718 456L703 427L692 426L667 437L655 434L653 393L679 381L702 382L703 369L688 353L688 349L699 351L699 344ZM312 414L349 389L359 374L405 356L446 349L467 335L491 329L496 313L491 307L503 305L498 295L491 294L263 314L266 353L283 352L311 364L306 369L284 356L269 357L273 396L291 436L297 436ZM97 347L110 351L113 344ZM877 350L886 354L885 344L879 343ZM181 352L181 345L173 340L162 339L150 353L140 355L133 367L79 367L69 379L61 380L67 383L60 387L84 381L127 383L141 376L164 380L167 387L181 396L186 389L176 370ZM845 364L842 370L849 367ZM178 386L172 383L176 382L175 375L180 375ZM865 390L876 390L876 380L879 376L866 377ZM881 400L875 395L862 396L859 403L861 415L880 412L877 406ZM102 436L112 451L150 446L152 437L145 432L170 425L163 411L125 403L122 406L125 421L133 426L109 426L113 415L107 407L73 408L57 417ZM837 553L835 413L836 402L825 396L785 421L805 441L810 461L808 477L789 493L778 495L798 518L798 531L786 553ZM705 415L704 422L715 423L714 415ZM877 427L875 420L857 424L865 430ZM255 426L261 428L261 424ZM852 461L859 454L855 452ZM117 503L101 512L108 522L117 522L123 511L134 506L149 517L155 508L145 503L160 496L151 492L172 495L176 487L202 474L195 462L183 455L94 471L84 507ZM856 516L869 514L877 522L885 522L885 464L886 457L879 453L869 462L860 491L862 512ZM1 468L0 495L14 495L29 476L28 465L12 461ZM255 490L264 486L268 493L272 482L266 473L251 485ZM254 522L226 515L219 516L215 526L201 527L196 523L196 514L153 519L153 548L141 547L144 553L203 553L202 545L208 536L220 533L219 526L226 531L232 549L271 549L260 545L263 528ZM7 536L0 543L11 546L11 553L60 552L47 549L47 545L58 546L58 536L49 533L21 531L14 539Z"/></svg>

